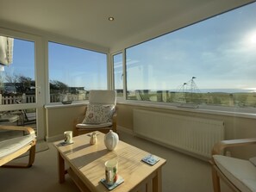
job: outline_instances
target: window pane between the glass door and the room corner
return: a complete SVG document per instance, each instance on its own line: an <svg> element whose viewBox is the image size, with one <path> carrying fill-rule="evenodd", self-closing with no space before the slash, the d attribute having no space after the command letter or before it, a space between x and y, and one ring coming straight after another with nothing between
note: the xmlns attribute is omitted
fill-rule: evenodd
<svg viewBox="0 0 256 192"><path fill-rule="evenodd" d="M107 55L49 42L51 102L88 99L89 90L107 89Z"/></svg>

